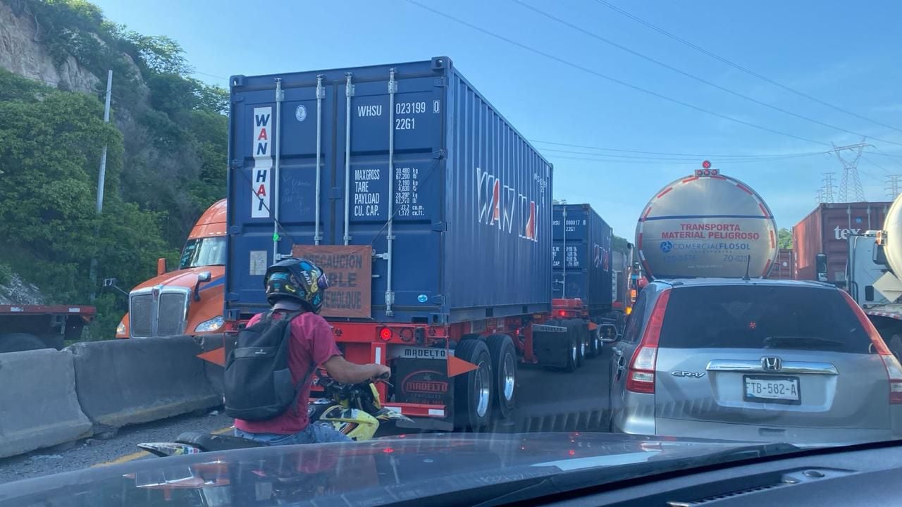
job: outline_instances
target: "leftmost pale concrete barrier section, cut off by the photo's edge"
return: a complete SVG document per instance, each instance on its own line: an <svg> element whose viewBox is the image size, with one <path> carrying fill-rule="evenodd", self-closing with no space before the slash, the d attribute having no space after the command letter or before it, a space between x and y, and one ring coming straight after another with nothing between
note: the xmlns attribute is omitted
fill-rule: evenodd
<svg viewBox="0 0 902 507"><path fill-rule="evenodd" d="M0 386L0 457L91 436L91 421L78 406L69 352L0 354Z"/></svg>

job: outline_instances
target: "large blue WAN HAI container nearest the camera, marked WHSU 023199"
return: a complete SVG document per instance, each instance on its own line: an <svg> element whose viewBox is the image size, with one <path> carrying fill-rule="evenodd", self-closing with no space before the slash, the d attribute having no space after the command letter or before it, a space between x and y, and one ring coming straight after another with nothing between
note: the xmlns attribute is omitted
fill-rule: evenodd
<svg viewBox="0 0 902 507"><path fill-rule="evenodd" d="M537 266L551 263L551 164L451 60L230 84L227 318L264 308L274 253L316 235L322 245L372 245L364 320L550 309L551 272Z"/></svg>

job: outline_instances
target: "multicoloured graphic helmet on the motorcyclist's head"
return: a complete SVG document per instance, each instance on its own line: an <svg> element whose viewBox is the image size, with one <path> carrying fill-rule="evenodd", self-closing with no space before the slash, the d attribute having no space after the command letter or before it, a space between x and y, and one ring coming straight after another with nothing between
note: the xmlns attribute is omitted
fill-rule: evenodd
<svg viewBox="0 0 902 507"><path fill-rule="evenodd" d="M287 299L302 304L308 311L323 308L323 292L329 288L326 273L307 259L282 259L272 264L263 277L266 300L270 305Z"/></svg>

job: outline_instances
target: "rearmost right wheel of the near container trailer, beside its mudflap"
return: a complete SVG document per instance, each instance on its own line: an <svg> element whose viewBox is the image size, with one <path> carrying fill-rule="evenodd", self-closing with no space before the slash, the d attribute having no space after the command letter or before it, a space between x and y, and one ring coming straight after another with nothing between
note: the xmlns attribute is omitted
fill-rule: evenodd
<svg viewBox="0 0 902 507"><path fill-rule="evenodd" d="M481 429L492 419L492 356L483 340L462 340L455 356L478 366L455 380L455 425Z"/></svg>

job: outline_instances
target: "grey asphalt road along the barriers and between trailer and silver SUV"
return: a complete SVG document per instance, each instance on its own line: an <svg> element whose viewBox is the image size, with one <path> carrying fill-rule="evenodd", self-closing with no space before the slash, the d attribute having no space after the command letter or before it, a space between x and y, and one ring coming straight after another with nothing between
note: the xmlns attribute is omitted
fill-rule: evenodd
<svg viewBox="0 0 902 507"><path fill-rule="evenodd" d="M585 360L574 373L521 365L513 420L496 421L492 431L602 431L605 429L610 353ZM0 459L0 484L105 466L133 459L154 459L135 444L169 441L183 431L226 432L232 419L219 412L181 416L120 429L114 438L89 438L28 455Z"/></svg>

